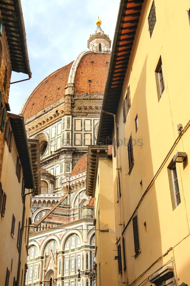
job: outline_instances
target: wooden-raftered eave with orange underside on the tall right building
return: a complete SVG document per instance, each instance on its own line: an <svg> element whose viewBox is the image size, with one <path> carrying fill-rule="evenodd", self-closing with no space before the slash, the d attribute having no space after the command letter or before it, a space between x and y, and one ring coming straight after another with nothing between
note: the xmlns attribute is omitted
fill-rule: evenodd
<svg viewBox="0 0 190 286"><path fill-rule="evenodd" d="M110 66L102 101L102 110L106 112L111 112L114 114L117 113L118 103L127 72L128 61L132 51L134 35L136 33L143 1L144 0L121 0L120 2ZM129 7L127 6L128 4L130 4ZM131 16L130 18L134 17L135 19L127 18L130 20L124 21L124 18L129 16ZM126 27L124 27L124 25L126 25ZM126 30L130 31L125 33ZM131 30L133 31L131 32ZM124 32L122 33L122 31ZM122 44L121 47L120 43L123 42L126 42L126 44L124 44L126 46ZM125 60L124 57L126 57ZM101 144L100 139L106 140L106 143L108 144L108 140L112 137L113 125L113 116L101 111L97 144Z"/></svg>

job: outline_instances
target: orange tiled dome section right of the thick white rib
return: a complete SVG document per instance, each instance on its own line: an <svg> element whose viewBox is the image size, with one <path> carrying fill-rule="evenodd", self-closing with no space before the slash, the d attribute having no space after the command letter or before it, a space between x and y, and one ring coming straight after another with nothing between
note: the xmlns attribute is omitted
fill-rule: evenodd
<svg viewBox="0 0 190 286"><path fill-rule="evenodd" d="M74 79L75 94L104 93L110 56L111 53L88 53L82 57Z"/></svg>

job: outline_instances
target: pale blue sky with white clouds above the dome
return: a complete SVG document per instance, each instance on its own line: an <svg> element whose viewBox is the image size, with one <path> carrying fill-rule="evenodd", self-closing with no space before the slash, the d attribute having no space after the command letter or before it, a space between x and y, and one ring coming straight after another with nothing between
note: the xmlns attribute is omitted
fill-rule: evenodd
<svg viewBox="0 0 190 286"><path fill-rule="evenodd" d="M31 91L48 74L73 61L81 51L88 50L89 35L102 20L102 30L113 41L120 0L21 0L31 80L12 84L9 104L19 114ZM11 82L28 76L12 73Z"/></svg>

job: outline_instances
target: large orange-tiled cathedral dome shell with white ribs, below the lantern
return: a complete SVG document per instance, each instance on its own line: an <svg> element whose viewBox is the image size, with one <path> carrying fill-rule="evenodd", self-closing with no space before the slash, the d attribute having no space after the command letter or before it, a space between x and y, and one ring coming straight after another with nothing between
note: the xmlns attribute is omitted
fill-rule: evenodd
<svg viewBox="0 0 190 286"><path fill-rule="evenodd" d="M103 94L110 53L84 51L68 65L56 70L31 92L20 113L29 118L65 95L66 84L74 84L74 94Z"/></svg>

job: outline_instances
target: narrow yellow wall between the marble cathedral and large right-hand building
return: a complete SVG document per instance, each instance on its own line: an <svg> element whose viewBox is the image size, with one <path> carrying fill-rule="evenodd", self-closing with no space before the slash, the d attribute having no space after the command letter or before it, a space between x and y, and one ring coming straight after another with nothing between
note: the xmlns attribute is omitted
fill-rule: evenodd
<svg viewBox="0 0 190 286"><path fill-rule="evenodd" d="M104 157L105 158L105 157ZM101 174L101 176L99 176ZM117 285L118 261L114 221L112 159L99 160L95 191L96 229L109 229L109 232L95 231L96 238L96 285Z"/></svg>

